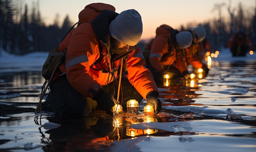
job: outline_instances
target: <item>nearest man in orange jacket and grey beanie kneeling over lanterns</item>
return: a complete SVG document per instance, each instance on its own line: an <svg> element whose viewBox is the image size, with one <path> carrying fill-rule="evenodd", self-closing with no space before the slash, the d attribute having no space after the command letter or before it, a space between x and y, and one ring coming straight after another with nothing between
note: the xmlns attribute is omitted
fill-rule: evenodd
<svg viewBox="0 0 256 152"><path fill-rule="evenodd" d="M67 50L63 75L49 84L50 93L42 110L62 115L86 115L88 100L97 102L99 109L113 115L121 79L123 101L144 98L147 105L161 108L158 89L145 59L137 46L142 34L140 14L134 10L115 13L109 4L89 4L79 13L78 26L67 34L58 50ZM121 65L122 60L124 64ZM119 69L123 66L124 72ZM126 107L126 102L120 102Z"/></svg>

